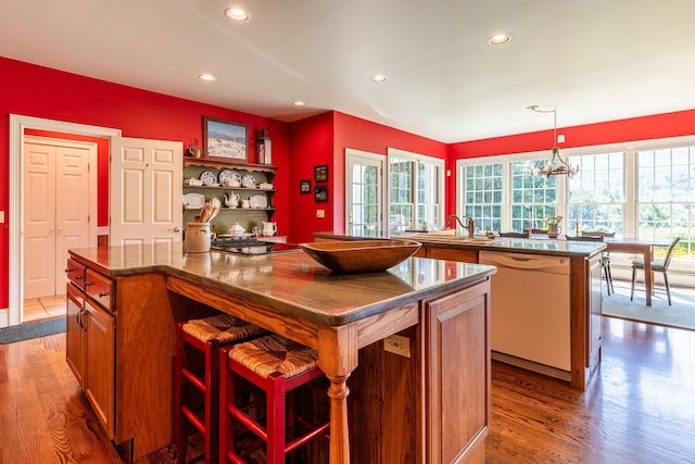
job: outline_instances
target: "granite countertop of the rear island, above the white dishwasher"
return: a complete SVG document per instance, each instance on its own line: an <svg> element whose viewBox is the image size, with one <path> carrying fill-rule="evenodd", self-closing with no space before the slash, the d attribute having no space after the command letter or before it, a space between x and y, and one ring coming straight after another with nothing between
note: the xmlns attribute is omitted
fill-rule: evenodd
<svg viewBox="0 0 695 464"><path fill-rule="evenodd" d="M357 237L350 235L339 235L330 233L314 234L316 238L361 240L369 237ZM369 238L371 239L371 238ZM573 241L559 239L548 239L547 237L535 238L509 238L497 237L493 240L469 240L455 235L439 234L403 234L392 236L391 239L407 239L419 241L431 248L443 248L450 250L489 250L506 251L511 253L547 254L556 256L593 256L606 249L606 243L594 241Z"/></svg>

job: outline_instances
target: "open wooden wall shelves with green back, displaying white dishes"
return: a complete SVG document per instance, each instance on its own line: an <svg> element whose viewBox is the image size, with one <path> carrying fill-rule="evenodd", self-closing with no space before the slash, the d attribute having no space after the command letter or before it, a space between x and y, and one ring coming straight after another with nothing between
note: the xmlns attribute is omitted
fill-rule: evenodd
<svg viewBox="0 0 695 464"><path fill-rule="evenodd" d="M186 185L187 179L200 179L203 173L212 173L217 181L219 181L219 174L226 171L231 171L240 178L251 176L254 179L255 186L238 186L226 187L219 186L190 186ZM184 193L202 195L205 201L212 201L218 199L222 204L222 209L213 225L214 230L217 234L226 234L229 227L239 223L244 230L251 231L252 227L262 227L264 221L270 221L275 214L275 205L273 198L276 193L275 188L258 188L262 184L273 184L275 175L277 174L277 167L269 164L252 164L252 163L226 163L222 161L210 161L201 159L185 159L184 160ZM241 208L240 204L236 206L225 206L225 195L239 196L240 200L250 200L250 208ZM255 204L254 204L255 203ZM258 203L265 203L265 208L257 206ZM200 208L187 208L184 206L184 225L191 222L194 216L200 213Z"/></svg>

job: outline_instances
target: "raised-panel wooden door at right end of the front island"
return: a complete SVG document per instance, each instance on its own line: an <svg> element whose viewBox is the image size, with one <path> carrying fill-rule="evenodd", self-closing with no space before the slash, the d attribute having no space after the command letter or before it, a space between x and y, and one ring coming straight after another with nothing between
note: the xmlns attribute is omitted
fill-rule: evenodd
<svg viewBox="0 0 695 464"><path fill-rule="evenodd" d="M428 463L484 462L490 283L426 303Z"/></svg>

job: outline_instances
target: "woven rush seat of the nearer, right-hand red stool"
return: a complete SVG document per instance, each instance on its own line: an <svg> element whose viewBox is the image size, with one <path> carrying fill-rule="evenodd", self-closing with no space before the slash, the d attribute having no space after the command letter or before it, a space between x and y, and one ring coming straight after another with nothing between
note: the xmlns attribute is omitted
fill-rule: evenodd
<svg viewBox="0 0 695 464"><path fill-rule="evenodd" d="M318 366L316 350L277 335L236 344L229 358L263 378L273 373L291 378Z"/></svg>

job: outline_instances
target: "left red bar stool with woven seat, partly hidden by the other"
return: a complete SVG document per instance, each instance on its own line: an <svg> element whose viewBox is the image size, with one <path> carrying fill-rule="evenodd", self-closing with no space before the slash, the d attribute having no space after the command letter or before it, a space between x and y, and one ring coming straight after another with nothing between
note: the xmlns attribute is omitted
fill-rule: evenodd
<svg viewBox="0 0 695 464"><path fill-rule="evenodd" d="M219 427L219 348L265 330L229 314L176 325L176 434L177 462L186 462L188 424L204 438L205 462L216 464ZM202 360L201 360L202 359ZM202 361L202 362L201 362ZM189 386L194 387L193 394ZM194 392L198 391L198 397ZM193 399L203 397L202 409Z"/></svg>

